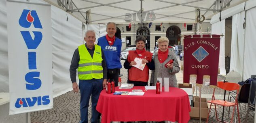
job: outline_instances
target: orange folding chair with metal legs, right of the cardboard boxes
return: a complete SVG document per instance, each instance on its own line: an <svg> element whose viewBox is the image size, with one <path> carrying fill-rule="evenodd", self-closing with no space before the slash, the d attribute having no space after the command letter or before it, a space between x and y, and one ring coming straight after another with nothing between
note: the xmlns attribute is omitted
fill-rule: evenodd
<svg viewBox="0 0 256 123"><path fill-rule="evenodd" d="M237 90L237 92L239 91L239 84L237 84L237 83L229 83L229 82L224 83L223 81L218 81L217 82L217 87L221 88L223 90L227 90L227 91L233 91L233 90ZM215 92L215 88L214 88L214 92ZM234 108L233 108L231 123L233 121L233 117L234 117L234 113L235 113L235 106L237 106L238 121L240 123L239 108L238 108L238 103L237 103L237 96L238 95L236 94L236 96L235 96L235 102L228 102L228 101L223 101L223 100L215 100L214 92L212 94L212 100L207 101L207 102L211 103L211 105L210 105L210 108L209 108L209 113L208 113L206 123L208 123L208 119L209 119L212 104L214 104L214 106L215 106L216 119L217 119L217 121L220 121L220 122L221 122L221 120L218 119L216 104L221 105L221 106L229 106L229 107L233 106ZM224 122L224 123L228 123L228 122Z"/></svg>

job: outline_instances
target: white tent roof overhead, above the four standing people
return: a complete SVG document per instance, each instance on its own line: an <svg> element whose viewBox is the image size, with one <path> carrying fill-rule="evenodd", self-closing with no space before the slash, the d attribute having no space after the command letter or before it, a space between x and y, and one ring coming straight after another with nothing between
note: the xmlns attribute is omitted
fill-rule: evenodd
<svg viewBox="0 0 256 123"><path fill-rule="evenodd" d="M82 22L196 23L197 9L205 19L247 0L44 0ZM220 3L220 1L222 1ZM224 10L223 9L223 10ZM141 14L142 13L142 14Z"/></svg>

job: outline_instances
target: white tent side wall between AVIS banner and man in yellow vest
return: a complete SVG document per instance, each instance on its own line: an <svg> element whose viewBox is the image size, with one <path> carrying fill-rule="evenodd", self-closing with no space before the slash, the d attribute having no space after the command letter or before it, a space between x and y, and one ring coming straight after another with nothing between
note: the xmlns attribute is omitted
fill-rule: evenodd
<svg viewBox="0 0 256 123"><path fill-rule="evenodd" d="M83 29L82 22L69 14L68 21L66 21L66 13L56 6L51 6L51 15L53 97L56 97L72 90L69 67L75 49L83 44Z"/></svg>

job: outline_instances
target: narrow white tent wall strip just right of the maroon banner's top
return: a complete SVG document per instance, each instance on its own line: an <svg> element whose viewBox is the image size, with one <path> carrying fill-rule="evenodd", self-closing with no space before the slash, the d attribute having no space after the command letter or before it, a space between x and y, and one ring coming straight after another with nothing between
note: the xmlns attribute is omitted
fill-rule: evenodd
<svg viewBox="0 0 256 123"><path fill-rule="evenodd" d="M220 37L220 57L219 68L220 74L226 75L225 69L225 20L212 24L212 34L224 35Z"/></svg>

